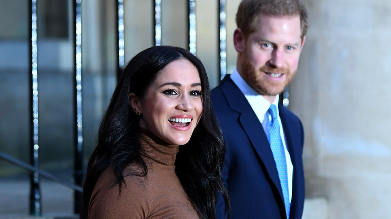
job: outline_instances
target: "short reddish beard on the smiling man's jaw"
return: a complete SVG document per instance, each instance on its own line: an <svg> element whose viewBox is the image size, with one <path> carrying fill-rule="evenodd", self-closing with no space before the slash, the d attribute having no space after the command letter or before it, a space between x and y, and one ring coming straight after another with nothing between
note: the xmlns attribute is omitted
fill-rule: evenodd
<svg viewBox="0 0 391 219"><path fill-rule="evenodd" d="M253 64L247 58L246 52L243 52L242 61L242 77L246 83L261 95L276 96L282 93L288 84L292 81L296 71L291 72L288 68L274 68L266 65L255 69ZM272 81L266 78L267 73L283 73L285 74L284 81Z"/></svg>

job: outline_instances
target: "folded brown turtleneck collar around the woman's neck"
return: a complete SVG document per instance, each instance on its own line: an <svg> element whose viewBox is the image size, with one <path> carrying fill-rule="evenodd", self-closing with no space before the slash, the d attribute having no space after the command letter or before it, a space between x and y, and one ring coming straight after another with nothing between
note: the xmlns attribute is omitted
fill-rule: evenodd
<svg viewBox="0 0 391 219"><path fill-rule="evenodd" d="M141 155L163 165L174 166L176 154L179 152L178 145L170 145L146 129L141 129L140 145Z"/></svg>

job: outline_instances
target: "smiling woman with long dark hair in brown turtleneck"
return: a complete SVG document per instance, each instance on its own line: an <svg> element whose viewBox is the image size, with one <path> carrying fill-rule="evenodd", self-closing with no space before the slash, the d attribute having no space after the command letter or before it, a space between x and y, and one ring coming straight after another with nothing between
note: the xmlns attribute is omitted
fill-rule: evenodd
<svg viewBox="0 0 391 219"><path fill-rule="evenodd" d="M81 218L215 218L225 146L201 61L157 46L125 67L87 167ZM178 146L181 145L181 146ZM228 209L227 209L228 212Z"/></svg>

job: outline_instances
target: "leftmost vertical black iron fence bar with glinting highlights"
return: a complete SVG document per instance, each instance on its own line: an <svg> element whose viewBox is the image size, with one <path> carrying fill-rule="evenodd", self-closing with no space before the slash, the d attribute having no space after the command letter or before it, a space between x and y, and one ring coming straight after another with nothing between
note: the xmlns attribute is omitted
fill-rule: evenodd
<svg viewBox="0 0 391 219"><path fill-rule="evenodd" d="M37 0L29 1L30 24L29 31L30 50L30 163L35 168L39 165L39 144L38 144L38 70L37 70ZM30 173L30 215L41 216L41 190L40 174L37 171Z"/></svg>

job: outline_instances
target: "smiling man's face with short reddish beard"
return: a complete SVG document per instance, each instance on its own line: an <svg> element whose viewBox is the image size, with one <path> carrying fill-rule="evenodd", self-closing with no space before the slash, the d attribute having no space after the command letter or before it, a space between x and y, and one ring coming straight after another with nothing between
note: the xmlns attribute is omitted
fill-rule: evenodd
<svg viewBox="0 0 391 219"><path fill-rule="evenodd" d="M241 33L235 31L235 34ZM247 84L270 102L284 91L296 74L305 40L301 40L300 34L299 15L260 15L255 32L247 38L242 34L238 72Z"/></svg>

